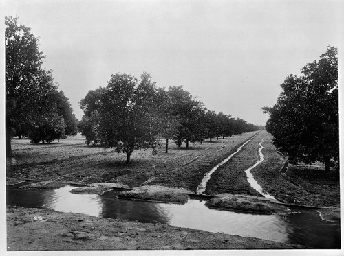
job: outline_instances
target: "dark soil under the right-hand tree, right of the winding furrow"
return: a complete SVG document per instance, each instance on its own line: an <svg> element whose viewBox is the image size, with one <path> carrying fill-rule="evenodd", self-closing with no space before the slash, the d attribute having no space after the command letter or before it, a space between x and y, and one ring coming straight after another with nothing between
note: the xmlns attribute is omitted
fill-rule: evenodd
<svg viewBox="0 0 344 256"><path fill-rule="evenodd" d="M261 132L265 140L264 161L251 172L268 194L281 202L318 207L340 207L339 171L325 172L324 165L288 165L276 151L272 136Z"/></svg>

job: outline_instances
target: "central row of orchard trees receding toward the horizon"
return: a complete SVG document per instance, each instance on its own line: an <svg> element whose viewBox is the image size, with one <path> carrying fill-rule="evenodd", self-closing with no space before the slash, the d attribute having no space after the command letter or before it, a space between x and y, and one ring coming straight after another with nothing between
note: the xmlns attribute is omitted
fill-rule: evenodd
<svg viewBox="0 0 344 256"><path fill-rule="evenodd" d="M166 139L178 146L214 137L228 137L259 130L243 119L207 110L197 97L182 86L157 88L149 74L140 80L131 75L111 75L107 86L89 91L80 101L84 111L79 130L87 144L101 144L127 154L134 150L153 149Z"/></svg>

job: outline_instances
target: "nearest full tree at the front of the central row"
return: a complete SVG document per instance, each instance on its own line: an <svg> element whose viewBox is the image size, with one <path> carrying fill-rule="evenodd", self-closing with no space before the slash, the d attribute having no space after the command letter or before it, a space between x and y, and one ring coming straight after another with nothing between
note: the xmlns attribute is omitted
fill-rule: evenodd
<svg viewBox="0 0 344 256"><path fill-rule="evenodd" d="M111 75L104 89L90 91L81 100L85 115L98 112L97 139L106 148L127 154L127 163L135 150L152 148L153 154L157 152L159 104L155 83L147 73L141 75L140 82L131 75Z"/></svg>

